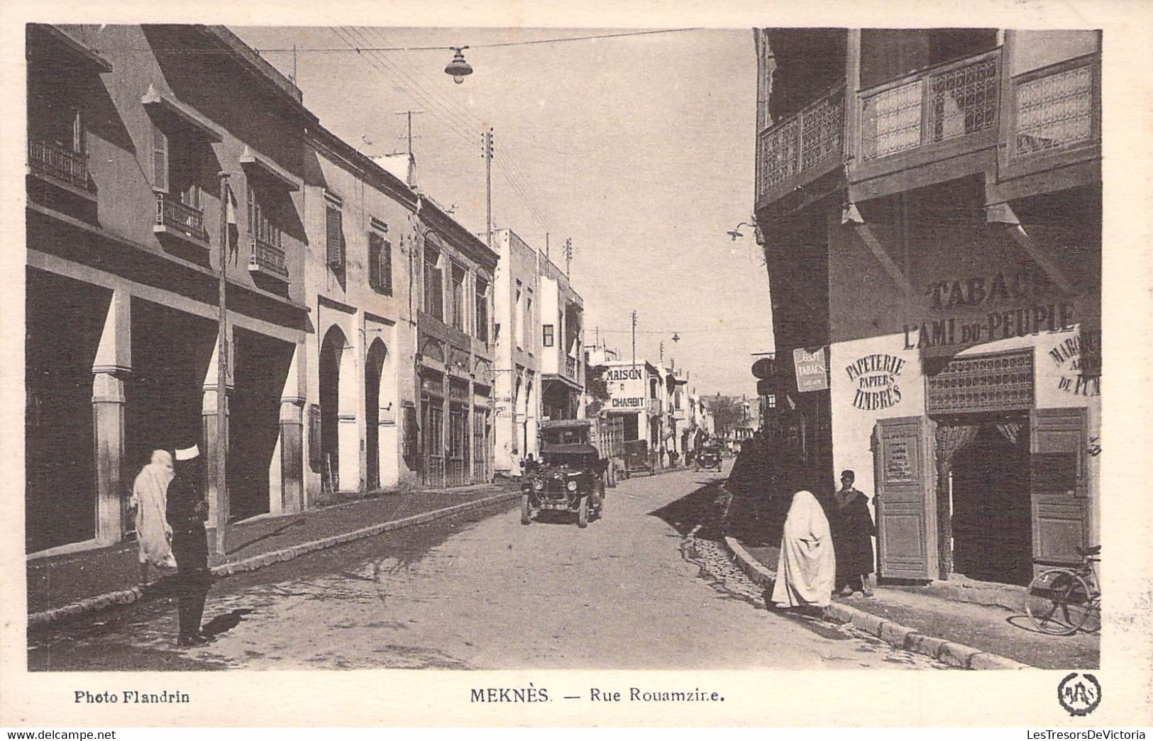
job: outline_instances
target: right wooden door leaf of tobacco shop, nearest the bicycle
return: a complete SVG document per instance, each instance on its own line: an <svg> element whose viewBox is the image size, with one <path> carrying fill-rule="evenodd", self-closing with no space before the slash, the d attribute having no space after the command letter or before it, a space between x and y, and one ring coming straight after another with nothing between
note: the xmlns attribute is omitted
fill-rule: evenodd
<svg viewBox="0 0 1153 741"><path fill-rule="evenodd" d="M1030 413L1034 569L1079 564L1077 546L1093 545L1085 542L1088 532L1085 413L1084 408Z"/></svg>

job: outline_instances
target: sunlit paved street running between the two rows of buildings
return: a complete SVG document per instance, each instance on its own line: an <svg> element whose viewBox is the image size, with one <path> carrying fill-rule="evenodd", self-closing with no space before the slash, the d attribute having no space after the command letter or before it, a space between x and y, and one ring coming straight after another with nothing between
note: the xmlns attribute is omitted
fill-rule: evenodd
<svg viewBox="0 0 1153 741"><path fill-rule="evenodd" d="M728 469L728 466L726 466ZM33 634L33 670L943 668L769 612L711 539L715 472L634 478L585 530L507 505L219 582L203 648L168 600Z"/></svg>

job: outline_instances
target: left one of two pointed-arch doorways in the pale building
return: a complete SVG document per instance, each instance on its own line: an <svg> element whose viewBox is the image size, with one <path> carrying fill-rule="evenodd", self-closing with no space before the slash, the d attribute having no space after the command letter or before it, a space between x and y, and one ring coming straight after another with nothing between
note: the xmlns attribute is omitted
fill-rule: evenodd
<svg viewBox="0 0 1153 741"><path fill-rule="evenodd" d="M360 485L356 434L356 368L340 327L332 326L321 345L321 481L329 492Z"/></svg>

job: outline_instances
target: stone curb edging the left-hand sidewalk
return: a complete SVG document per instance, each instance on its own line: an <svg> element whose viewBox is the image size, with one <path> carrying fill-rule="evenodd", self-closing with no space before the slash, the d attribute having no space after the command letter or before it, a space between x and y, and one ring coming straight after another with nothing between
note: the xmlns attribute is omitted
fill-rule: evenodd
<svg viewBox="0 0 1153 741"><path fill-rule="evenodd" d="M503 492L499 494L493 494L491 497L484 497L483 499L474 499L473 501L465 501L459 505L453 505L451 507L444 507L443 509L434 509L432 512L423 512L417 515L412 515L408 517L402 517L400 520L392 520L389 522L379 522L367 528L360 528L352 530L349 532L341 532L339 535L329 536L326 538L319 538L317 540L309 540L307 543L297 543L279 551L271 551L269 553L259 553L257 555L242 559L240 561L229 561L226 564L220 564L219 566L212 567L212 575L217 579L227 579L234 574L241 572L255 572L256 569L277 564L279 561L291 561L295 558L304 555L306 553L311 553L312 551L321 551L324 549L331 549L337 545L344 545L352 540L359 540L361 538L369 538L375 535L380 535L382 532L387 532L390 530L400 530L402 528L408 528L416 524L423 524L425 522L432 522L434 520L439 520L442 517L447 517L460 512L468 512L470 509L480 509L488 505L497 504L500 501L506 501L510 499L519 499L520 492ZM95 597L85 597L84 599L76 600L74 603L63 605L62 607L53 607L52 610L45 610L43 612L32 612L28 615L28 626L39 626L52 622L62 622L65 620L70 620L73 618L89 614L93 612L99 612L115 605L128 605L144 597L144 592L140 587L133 587L131 589L122 589L119 591L107 592L105 595L97 595Z"/></svg>

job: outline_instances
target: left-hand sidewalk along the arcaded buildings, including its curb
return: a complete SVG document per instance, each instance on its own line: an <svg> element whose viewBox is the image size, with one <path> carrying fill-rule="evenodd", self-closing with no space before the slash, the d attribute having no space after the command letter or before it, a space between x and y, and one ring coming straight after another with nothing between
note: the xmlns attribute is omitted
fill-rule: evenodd
<svg viewBox="0 0 1153 741"><path fill-rule="evenodd" d="M224 577L517 497L519 485L511 481L382 493L323 509L262 515L231 525L226 534L226 553L211 557L209 565L213 574ZM137 584L136 553L136 544L126 542L28 561L29 625L63 620L146 596L146 589Z"/></svg>

